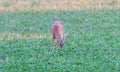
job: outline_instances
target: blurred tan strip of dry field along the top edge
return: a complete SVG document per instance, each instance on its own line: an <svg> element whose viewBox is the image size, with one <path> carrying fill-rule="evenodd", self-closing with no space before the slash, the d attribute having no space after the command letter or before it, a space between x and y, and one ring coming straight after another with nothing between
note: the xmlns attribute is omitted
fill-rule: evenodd
<svg viewBox="0 0 120 72"><path fill-rule="evenodd" d="M0 0L0 12L119 8L120 0Z"/></svg>

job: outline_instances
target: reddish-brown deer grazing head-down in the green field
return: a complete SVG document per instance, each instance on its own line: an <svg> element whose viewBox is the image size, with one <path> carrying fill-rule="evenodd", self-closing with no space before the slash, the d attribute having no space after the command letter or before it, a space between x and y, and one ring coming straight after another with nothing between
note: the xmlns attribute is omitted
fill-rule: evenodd
<svg viewBox="0 0 120 72"><path fill-rule="evenodd" d="M66 40L66 36L63 37L64 27L60 21L55 21L51 28L53 36L53 46L54 40L58 41L58 47L62 48Z"/></svg>

